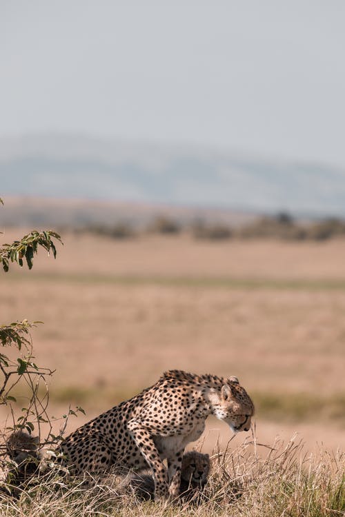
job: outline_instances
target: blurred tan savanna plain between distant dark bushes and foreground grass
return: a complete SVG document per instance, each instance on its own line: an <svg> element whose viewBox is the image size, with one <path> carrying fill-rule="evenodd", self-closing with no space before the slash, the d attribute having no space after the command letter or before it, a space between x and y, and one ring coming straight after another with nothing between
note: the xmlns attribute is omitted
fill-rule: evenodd
<svg viewBox="0 0 345 517"><path fill-rule="evenodd" d="M8 230L2 241L24 233ZM1 272L0 314L1 323L44 322L32 340L35 361L55 369L50 414L86 412L68 430L178 368L236 375L252 396L253 432L230 448L266 454L282 439L302 441L306 454L344 450L344 239L61 237L56 261L40 250L32 271ZM210 419L198 447L214 452L229 438Z"/></svg>

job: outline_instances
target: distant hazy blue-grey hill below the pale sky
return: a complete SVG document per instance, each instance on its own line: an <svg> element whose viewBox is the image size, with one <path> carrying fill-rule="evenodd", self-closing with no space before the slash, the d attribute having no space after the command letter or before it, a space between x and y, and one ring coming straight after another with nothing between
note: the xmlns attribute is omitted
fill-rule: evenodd
<svg viewBox="0 0 345 517"><path fill-rule="evenodd" d="M47 134L0 140L0 194L345 214L345 170Z"/></svg>

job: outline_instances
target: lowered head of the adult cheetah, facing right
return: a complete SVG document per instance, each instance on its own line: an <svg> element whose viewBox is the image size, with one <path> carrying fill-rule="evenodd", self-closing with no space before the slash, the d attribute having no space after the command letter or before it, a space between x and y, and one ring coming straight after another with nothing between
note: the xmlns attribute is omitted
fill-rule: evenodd
<svg viewBox="0 0 345 517"><path fill-rule="evenodd" d="M229 377L220 393L213 397L213 414L224 420L233 432L249 431L254 405L237 377Z"/></svg>

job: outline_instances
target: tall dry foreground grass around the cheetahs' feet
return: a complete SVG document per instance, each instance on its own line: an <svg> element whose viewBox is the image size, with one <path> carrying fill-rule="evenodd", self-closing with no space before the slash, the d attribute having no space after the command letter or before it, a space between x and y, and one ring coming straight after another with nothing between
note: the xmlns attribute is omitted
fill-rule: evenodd
<svg viewBox="0 0 345 517"><path fill-rule="evenodd" d="M232 445L232 444L230 444ZM304 452L293 438L259 445L255 438L214 451L208 484L195 503L141 503L119 491L118 478L92 488L53 473L33 479L19 498L3 494L1 516L336 517L345 511L344 454ZM262 454L262 452L264 454Z"/></svg>

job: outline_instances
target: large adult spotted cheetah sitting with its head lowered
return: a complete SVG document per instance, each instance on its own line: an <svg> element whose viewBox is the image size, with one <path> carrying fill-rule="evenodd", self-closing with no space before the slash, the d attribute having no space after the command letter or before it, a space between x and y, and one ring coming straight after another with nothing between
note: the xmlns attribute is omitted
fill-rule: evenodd
<svg viewBox="0 0 345 517"><path fill-rule="evenodd" d="M201 436L212 414L233 432L250 429L254 405L238 379L170 370L72 432L62 441L61 453L76 475L102 474L111 466L149 467L155 499L177 497L184 449Z"/></svg>

